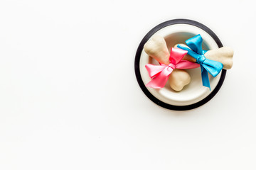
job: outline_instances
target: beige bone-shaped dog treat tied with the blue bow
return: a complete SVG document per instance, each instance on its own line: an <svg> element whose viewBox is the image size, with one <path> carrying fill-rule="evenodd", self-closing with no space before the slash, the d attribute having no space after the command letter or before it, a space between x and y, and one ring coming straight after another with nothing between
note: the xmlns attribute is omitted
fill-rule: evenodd
<svg viewBox="0 0 256 170"><path fill-rule="evenodd" d="M177 47L177 45L175 45L174 47ZM184 44L179 44L179 45L188 47L187 45L184 45ZM216 50L208 50L204 54L204 56L210 60L215 60L217 62L221 62L223 64L223 69L231 69L231 67L233 66L233 55L234 55L234 51L230 47L220 47ZM183 60L188 60L190 62L196 62L196 59L191 57L188 54L186 54L183 57Z"/></svg>

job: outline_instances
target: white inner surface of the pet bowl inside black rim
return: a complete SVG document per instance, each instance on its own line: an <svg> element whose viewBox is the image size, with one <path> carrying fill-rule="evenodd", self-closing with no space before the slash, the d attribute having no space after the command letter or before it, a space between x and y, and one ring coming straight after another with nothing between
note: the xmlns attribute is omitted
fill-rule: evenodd
<svg viewBox="0 0 256 170"><path fill-rule="evenodd" d="M203 38L203 50L213 50L218 48L215 40L208 33L206 33L205 30L188 24L176 24L167 26L154 33L154 35L161 35L165 38L169 51L171 50L171 47L174 47L174 45L178 43L185 44L185 40L198 34L201 34ZM154 35L152 35L152 37ZM143 50L139 62L139 69L144 84L147 84L151 80L145 68L145 65L148 63L159 64L152 57L146 55L146 52ZM186 69L186 71L191 76L191 83L185 86L182 91L174 91L169 86L169 83L166 83L166 86L164 86L162 89L152 89L149 87L147 87L147 89L153 96L158 98L160 101L163 101L164 103L168 103L174 106L186 106L197 103L203 98L206 98L206 96L208 96L217 86L221 75L221 72L217 77L212 77L210 74L208 74L210 79L209 90L202 84L200 67L196 69Z"/></svg>

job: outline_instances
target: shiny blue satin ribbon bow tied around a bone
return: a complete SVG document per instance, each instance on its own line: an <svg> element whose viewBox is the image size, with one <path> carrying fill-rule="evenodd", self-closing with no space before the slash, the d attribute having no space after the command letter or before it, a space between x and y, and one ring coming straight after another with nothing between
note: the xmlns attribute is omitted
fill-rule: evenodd
<svg viewBox="0 0 256 170"><path fill-rule="evenodd" d="M183 47L181 45L178 45L177 47L181 48L182 50L187 50L188 55L191 55L191 57L195 58L196 62L200 64L203 86L206 86L210 89L208 72L213 77L216 77L220 73L221 69L223 69L223 64L221 62L209 60L204 56L207 50L202 49L203 38L200 34L186 40L185 42L191 49L188 47Z"/></svg>

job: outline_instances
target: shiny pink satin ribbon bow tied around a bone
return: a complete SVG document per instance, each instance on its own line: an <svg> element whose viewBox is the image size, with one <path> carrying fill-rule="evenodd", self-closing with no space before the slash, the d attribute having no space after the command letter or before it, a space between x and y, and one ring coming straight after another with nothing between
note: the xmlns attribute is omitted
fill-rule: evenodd
<svg viewBox="0 0 256 170"><path fill-rule="evenodd" d="M152 79L146 86L154 89L161 89L165 86L169 79L169 75L174 69L194 69L200 67L199 64L189 62L187 60L181 60L188 51L181 50L176 47L171 48L170 64L153 65L146 64L146 70L149 73L149 77Z"/></svg>

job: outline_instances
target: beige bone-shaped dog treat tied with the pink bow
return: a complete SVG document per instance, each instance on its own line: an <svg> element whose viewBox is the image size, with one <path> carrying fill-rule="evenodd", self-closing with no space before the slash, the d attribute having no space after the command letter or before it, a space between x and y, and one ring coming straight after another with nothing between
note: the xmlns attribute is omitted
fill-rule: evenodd
<svg viewBox="0 0 256 170"><path fill-rule="evenodd" d="M144 51L147 55L153 57L162 64L170 64L170 53L163 37L155 35L144 45ZM184 86L190 83L191 77L185 70L174 69L170 74L169 84L175 91L181 91Z"/></svg>

